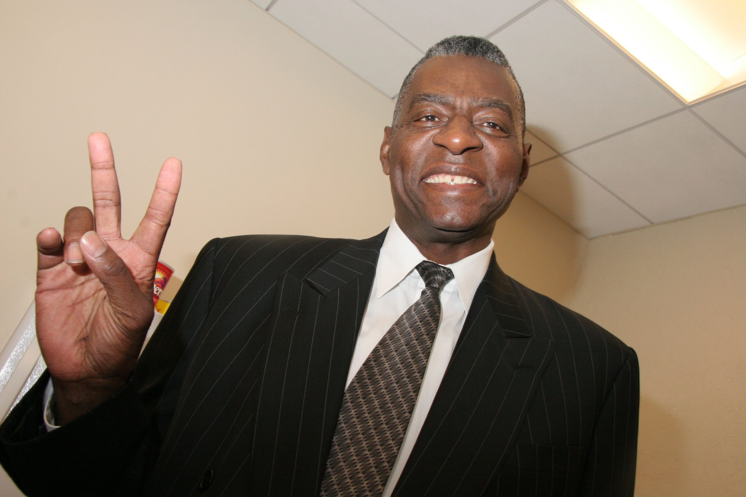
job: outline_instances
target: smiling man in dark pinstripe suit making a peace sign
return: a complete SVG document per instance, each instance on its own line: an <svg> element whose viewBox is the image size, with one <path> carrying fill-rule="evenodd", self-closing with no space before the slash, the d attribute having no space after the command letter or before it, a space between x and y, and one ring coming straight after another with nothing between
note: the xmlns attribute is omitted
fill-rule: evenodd
<svg viewBox="0 0 746 497"><path fill-rule="evenodd" d="M181 164L123 240L94 134L94 215L37 238L48 373L0 428L1 462L44 496L631 496L635 352L492 254L523 133L501 51L439 42L384 132L391 227L210 241L140 360Z"/></svg>

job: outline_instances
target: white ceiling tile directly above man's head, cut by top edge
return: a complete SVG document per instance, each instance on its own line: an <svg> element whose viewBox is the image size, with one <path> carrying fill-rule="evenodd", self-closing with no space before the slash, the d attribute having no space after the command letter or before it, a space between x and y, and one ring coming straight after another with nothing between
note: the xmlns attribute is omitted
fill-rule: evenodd
<svg viewBox="0 0 746 497"><path fill-rule="evenodd" d="M454 34L485 37L538 0L353 0L427 51Z"/></svg>

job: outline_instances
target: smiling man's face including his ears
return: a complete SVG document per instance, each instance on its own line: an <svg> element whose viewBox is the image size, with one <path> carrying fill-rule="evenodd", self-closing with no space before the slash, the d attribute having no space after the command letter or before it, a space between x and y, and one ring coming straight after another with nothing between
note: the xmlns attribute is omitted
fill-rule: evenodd
<svg viewBox="0 0 746 497"><path fill-rule="evenodd" d="M431 241L491 234L529 165L505 69L433 57L417 69L395 124L395 133L386 127L380 160L402 229Z"/></svg>

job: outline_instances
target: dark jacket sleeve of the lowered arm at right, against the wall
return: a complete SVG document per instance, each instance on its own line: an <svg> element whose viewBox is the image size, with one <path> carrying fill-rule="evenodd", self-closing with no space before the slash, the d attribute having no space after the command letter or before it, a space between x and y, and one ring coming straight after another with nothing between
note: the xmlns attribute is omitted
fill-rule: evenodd
<svg viewBox="0 0 746 497"><path fill-rule="evenodd" d="M579 496L634 495L639 383L637 355L630 349L598 414Z"/></svg>

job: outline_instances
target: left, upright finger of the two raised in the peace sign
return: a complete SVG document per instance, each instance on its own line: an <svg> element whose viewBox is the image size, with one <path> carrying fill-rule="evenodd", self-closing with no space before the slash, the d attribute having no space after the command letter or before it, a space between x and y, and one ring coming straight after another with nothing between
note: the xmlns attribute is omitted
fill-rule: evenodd
<svg viewBox="0 0 746 497"><path fill-rule="evenodd" d="M106 133L91 133L88 137L91 162L91 191L95 231L101 238L121 238L122 198L116 180L114 153Z"/></svg>

